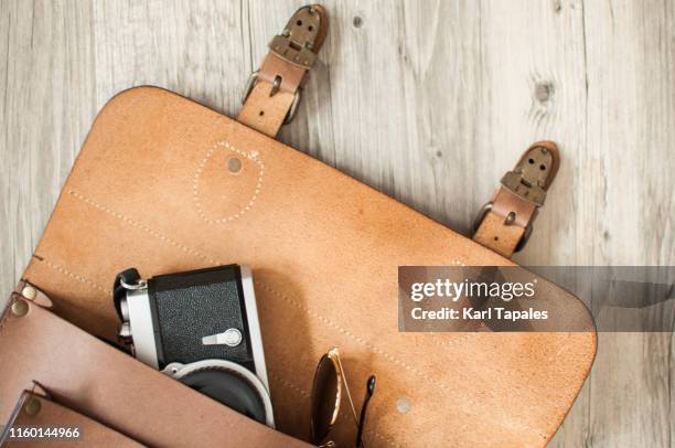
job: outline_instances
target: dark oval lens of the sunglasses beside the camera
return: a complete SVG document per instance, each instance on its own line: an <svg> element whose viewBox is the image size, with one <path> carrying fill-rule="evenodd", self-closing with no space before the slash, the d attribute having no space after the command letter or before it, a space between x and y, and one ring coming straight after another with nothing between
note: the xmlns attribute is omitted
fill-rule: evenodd
<svg viewBox="0 0 675 448"><path fill-rule="evenodd" d="M312 386L311 438L312 444L321 444L333 425L338 397L338 371L333 361L323 355L314 373Z"/></svg>

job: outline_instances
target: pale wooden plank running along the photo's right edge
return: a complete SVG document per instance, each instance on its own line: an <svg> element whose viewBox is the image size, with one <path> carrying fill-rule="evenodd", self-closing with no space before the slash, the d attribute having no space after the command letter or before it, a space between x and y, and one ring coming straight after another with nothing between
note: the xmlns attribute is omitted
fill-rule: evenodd
<svg viewBox="0 0 675 448"><path fill-rule="evenodd" d="M587 2L588 143L577 244L592 264L675 262L675 6ZM601 235L601 237L600 237ZM594 236L594 237L593 237ZM600 334L589 441L674 444L673 334Z"/></svg>

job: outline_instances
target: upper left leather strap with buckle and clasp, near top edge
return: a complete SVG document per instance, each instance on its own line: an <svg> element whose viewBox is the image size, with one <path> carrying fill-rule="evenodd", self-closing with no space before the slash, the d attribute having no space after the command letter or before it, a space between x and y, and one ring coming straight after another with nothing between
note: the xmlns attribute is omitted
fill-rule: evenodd
<svg viewBox="0 0 675 448"><path fill-rule="evenodd" d="M262 65L249 78L237 120L269 137L292 120L307 73L328 33L325 10L311 4L291 17L269 44Z"/></svg>

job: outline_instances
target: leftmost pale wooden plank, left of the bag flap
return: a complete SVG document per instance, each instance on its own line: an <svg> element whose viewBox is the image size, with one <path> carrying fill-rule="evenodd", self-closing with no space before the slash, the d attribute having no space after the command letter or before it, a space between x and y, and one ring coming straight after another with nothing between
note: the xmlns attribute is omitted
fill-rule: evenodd
<svg viewBox="0 0 675 448"><path fill-rule="evenodd" d="M0 2L0 287L13 289L96 108L85 1Z"/></svg>

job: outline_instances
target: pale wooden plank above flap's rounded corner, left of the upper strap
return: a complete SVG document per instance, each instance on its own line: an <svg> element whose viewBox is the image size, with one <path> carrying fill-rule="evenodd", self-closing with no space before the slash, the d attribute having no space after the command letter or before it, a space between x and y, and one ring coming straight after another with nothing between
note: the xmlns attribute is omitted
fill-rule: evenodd
<svg viewBox="0 0 675 448"><path fill-rule="evenodd" d="M93 2L97 107L154 85L235 115L251 71L247 14L234 1Z"/></svg>

